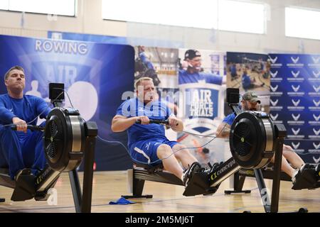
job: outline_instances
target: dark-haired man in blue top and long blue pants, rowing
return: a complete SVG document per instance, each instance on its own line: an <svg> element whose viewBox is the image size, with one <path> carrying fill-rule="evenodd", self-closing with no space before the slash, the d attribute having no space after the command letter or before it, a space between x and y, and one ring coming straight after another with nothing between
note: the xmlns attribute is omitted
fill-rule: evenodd
<svg viewBox="0 0 320 227"><path fill-rule="evenodd" d="M36 175L46 165L43 133L27 130L27 123L36 125L38 115L46 118L50 108L43 99L23 94L26 78L22 67L11 67L4 83L8 93L0 95L0 167L9 167L11 179ZM16 131L8 126L11 124Z"/></svg>

